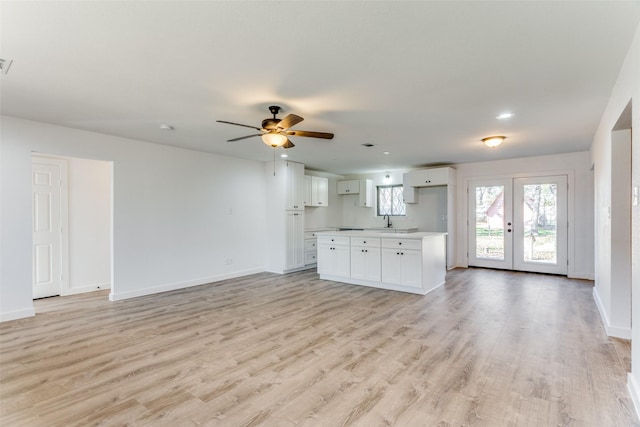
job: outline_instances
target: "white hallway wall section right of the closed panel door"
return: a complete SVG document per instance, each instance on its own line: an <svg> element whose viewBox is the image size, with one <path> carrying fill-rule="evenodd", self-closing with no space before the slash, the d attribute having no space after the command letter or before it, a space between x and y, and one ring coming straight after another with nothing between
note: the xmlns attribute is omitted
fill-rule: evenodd
<svg viewBox="0 0 640 427"><path fill-rule="evenodd" d="M69 158L69 289L111 287L111 163Z"/></svg>

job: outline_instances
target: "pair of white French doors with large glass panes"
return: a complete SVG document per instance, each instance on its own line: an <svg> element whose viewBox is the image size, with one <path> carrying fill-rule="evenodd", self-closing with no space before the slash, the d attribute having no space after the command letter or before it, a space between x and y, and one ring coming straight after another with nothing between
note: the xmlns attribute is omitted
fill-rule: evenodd
<svg viewBox="0 0 640 427"><path fill-rule="evenodd" d="M567 177L469 183L469 265L567 274Z"/></svg>

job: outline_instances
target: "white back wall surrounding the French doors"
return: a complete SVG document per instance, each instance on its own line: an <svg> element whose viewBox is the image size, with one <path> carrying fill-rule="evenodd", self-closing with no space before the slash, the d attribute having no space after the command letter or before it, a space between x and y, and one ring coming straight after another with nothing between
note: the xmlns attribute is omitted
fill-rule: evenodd
<svg viewBox="0 0 640 427"><path fill-rule="evenodd" d="M467 187L474 178L569 174L569 277L593 278L593 174L588 152L455 165L458 179L457 264L467 266Z"/></svg>

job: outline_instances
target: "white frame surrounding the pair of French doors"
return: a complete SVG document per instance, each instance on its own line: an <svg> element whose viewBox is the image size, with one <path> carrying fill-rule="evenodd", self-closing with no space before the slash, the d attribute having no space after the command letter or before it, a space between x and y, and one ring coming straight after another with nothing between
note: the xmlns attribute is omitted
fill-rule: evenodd
<svg viewBox="0 0 640 427"><path fill-rule="evenodd" d="M469 267L469 183L471 181L489 181L489 180L500 180L500 179L516 179L516 178L535 178L535 177L546 177L546 176L556 176L556 175L566 175L567 176L567 277L576 277L575 276L575 173L573 169L560 169L560 170L549 170L549 171L540 171L540 172L527 172L527 173L513 173L513 174L504 174L504 175L474 175L474 176L465 176L462 178L462 189L459 193L460 198L459 202L461 202L462 210L464 212L465 218L463 219L464 233L459 233L462 245L462 251L459 253L459 263L463 268ZM460 240L459 240L460 241Z"/></svg>

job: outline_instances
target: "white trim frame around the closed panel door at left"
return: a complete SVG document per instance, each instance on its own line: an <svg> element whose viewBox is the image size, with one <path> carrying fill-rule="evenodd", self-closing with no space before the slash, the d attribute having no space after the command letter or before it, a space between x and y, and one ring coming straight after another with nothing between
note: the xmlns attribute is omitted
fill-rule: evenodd
<svg viewBox="0 0 640 427"><path fill-rule="evenodd" d="M40 153L31 153L31 165L44 164L58 166L60 169L60 295L69 291L69 161L63 157L48 156ZM33 230L33 191L31 192L31 229ZM32 275L34 257L33 236L31 238L31 263ZM31 293L33 298L33 277L31 280Z"/></svg>

